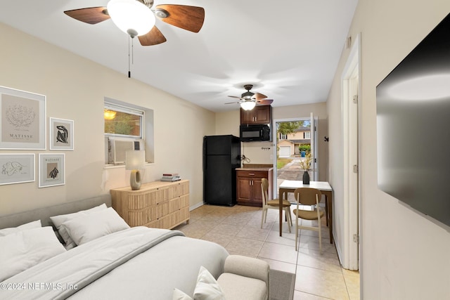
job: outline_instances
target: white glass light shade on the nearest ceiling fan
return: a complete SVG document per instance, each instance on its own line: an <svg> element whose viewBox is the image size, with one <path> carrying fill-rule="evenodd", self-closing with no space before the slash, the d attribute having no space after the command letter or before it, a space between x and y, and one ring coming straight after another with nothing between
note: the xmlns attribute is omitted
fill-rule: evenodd
<svg viewBox="0 0 450 300"><path fill-rule="evenodd" d="M110 0L107 8L114 24L131 37L146 34L155 25L155 15L140 1Z"/></svg>

